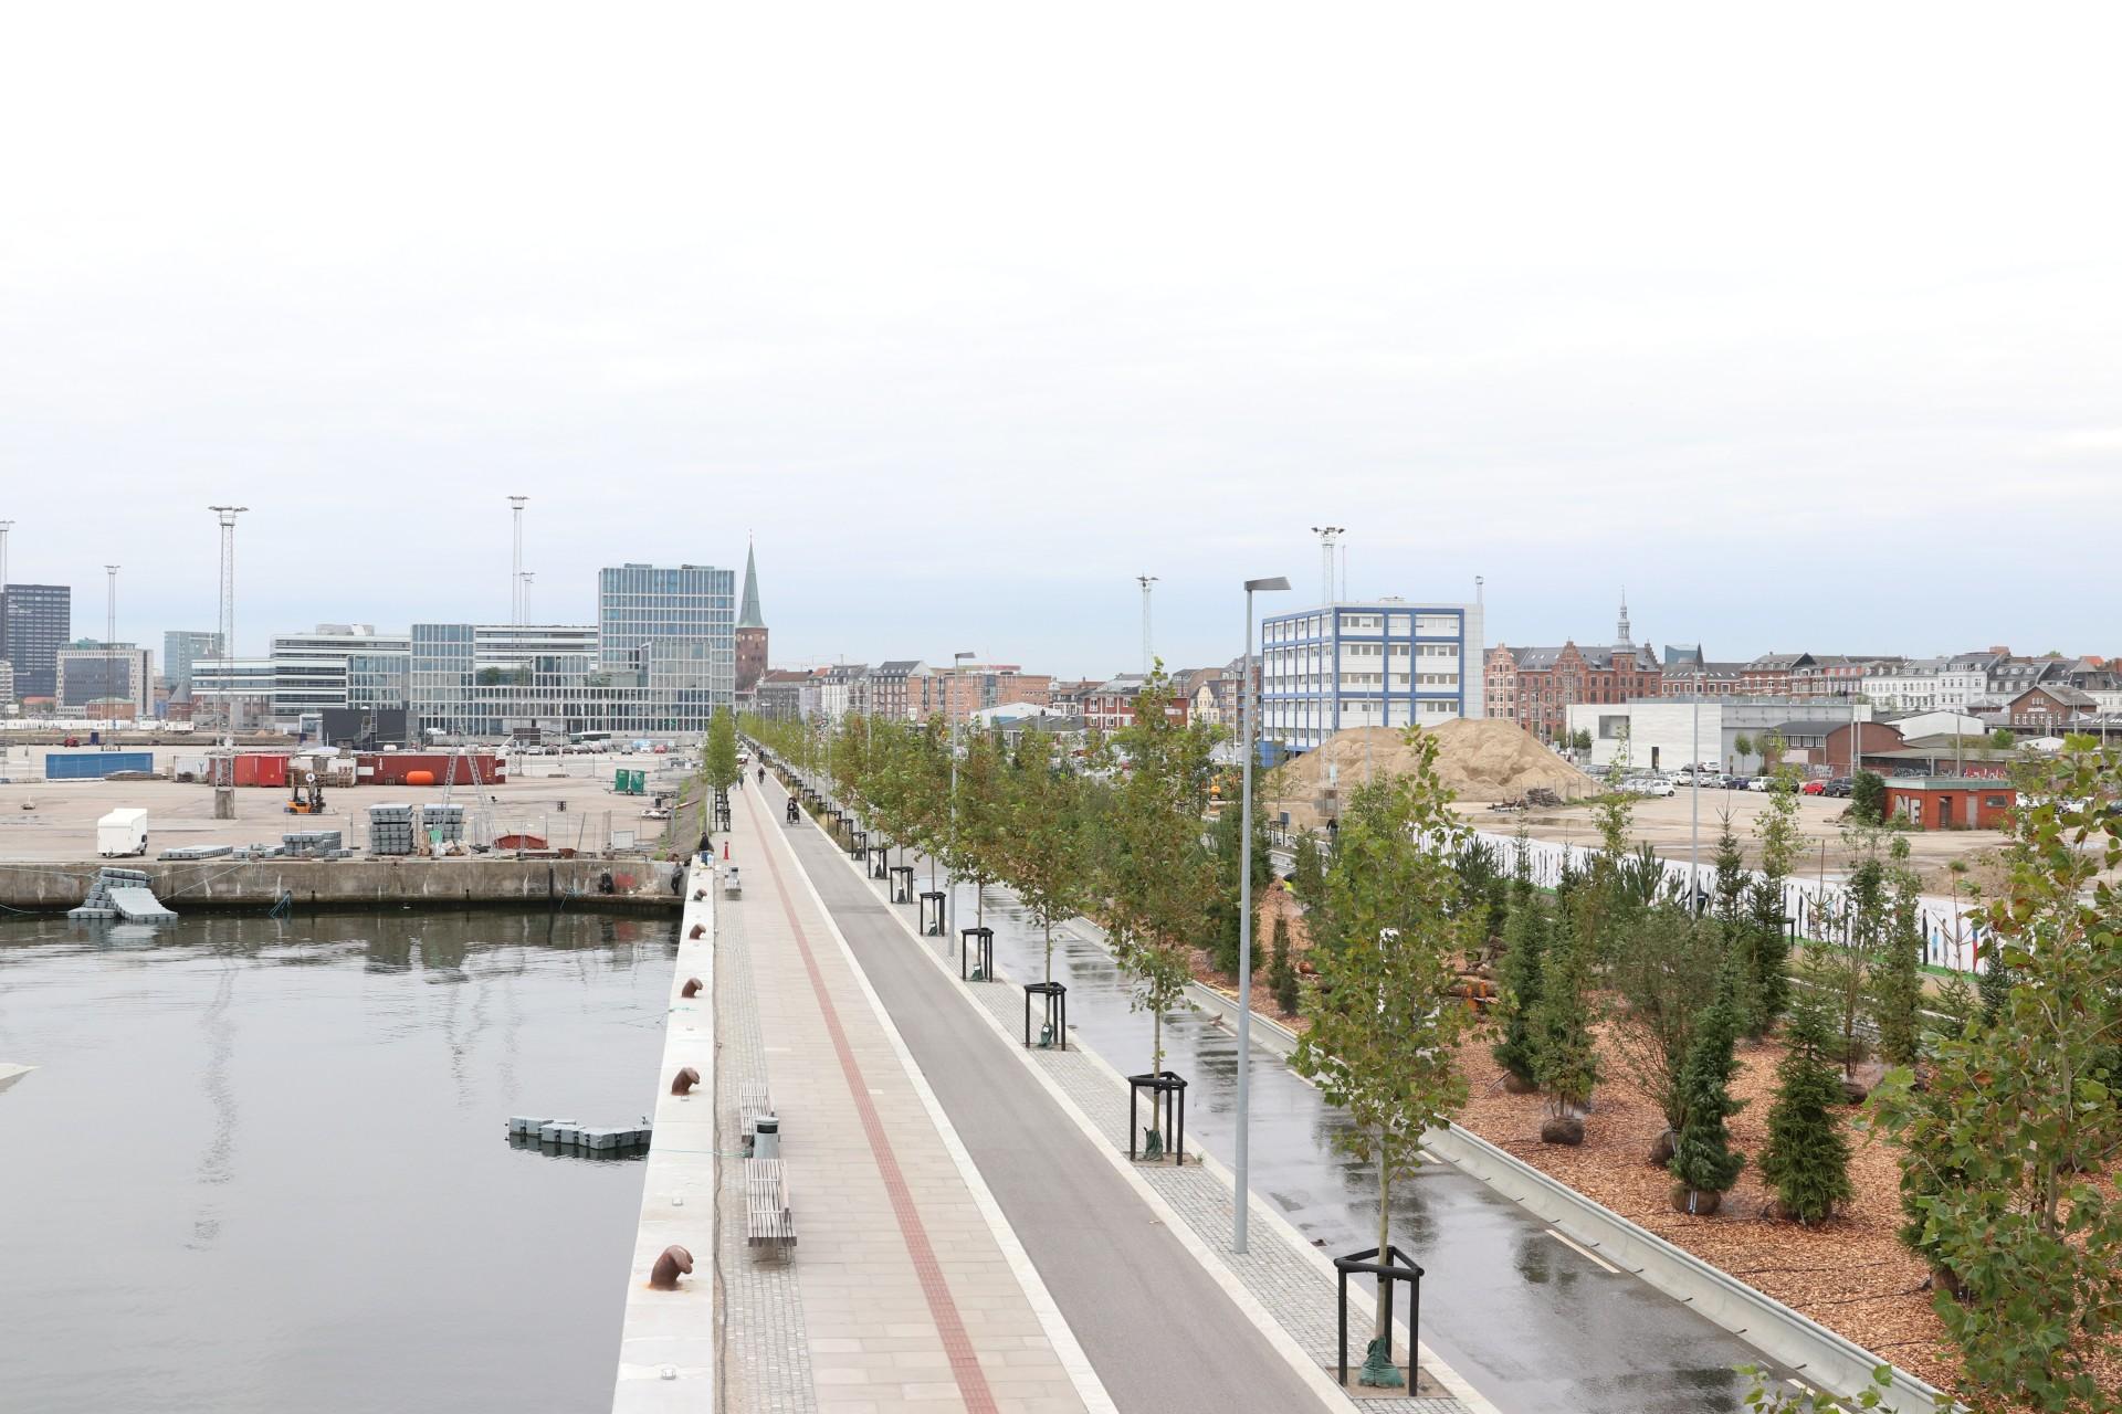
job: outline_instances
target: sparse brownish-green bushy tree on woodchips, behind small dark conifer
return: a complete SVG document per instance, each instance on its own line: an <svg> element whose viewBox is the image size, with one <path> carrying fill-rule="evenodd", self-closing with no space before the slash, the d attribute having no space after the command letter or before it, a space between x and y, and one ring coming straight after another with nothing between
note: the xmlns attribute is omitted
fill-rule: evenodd
<svg viewBox="0 0 2122 1414"><path fill-rule="evenodd" d="M1615 948L1613 1047L1642 1094L1666 1117L1666 1132L1651 1147L1651 1162L1666 1164L1687 1121L1681 1071L1693 1047L1695 1026L1717 1001L1723 931L1681 907L1649 909Z"/></svg>

